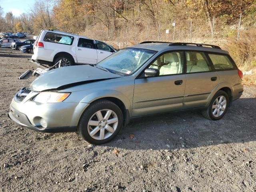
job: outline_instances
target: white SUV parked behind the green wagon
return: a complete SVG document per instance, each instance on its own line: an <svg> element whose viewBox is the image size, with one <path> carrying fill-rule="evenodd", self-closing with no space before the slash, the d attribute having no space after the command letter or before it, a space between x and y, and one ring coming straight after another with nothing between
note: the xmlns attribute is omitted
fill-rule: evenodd
<svg viewBox="0 0 256 192"><path fill-rule="evenodd" d="M60 66L97 64L117 50L110 45L83 36L57 30L41 30L34 36L32 61Z"/></svg>

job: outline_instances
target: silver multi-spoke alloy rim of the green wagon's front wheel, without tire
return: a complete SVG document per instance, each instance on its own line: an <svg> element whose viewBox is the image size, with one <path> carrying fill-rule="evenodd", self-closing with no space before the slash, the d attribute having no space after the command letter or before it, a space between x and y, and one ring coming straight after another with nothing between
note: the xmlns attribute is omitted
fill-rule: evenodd
<svg viewBox="0 0 256 192"><path fill-rule="evenodd" d="M109 109L99 110L92 115L88 122L88 132L96 140L110 137L118 126L116 113Z"/></svg>

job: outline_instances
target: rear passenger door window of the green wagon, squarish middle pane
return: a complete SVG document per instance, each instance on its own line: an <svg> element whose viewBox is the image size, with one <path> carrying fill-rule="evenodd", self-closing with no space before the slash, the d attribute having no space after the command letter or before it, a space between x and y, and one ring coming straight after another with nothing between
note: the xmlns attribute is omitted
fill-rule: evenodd
<svg viewBox="0 0 256 192"><path fill-rule="evenodd" d="M212 71L204 52L187 51L186 52L187 73Z"/></svg>

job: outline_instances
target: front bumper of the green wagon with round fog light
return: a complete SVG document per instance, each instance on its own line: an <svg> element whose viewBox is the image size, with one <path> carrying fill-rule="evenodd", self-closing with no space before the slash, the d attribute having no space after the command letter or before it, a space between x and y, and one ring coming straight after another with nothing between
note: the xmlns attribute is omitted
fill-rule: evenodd
<svg viewBox="0 0 256 192"><path fill-rule="evenodd" d="M40 132L73 132L76 131L80 116L87 103L38 103L31 98L36 94L30 92L24 100L19 101L18 94L12 99L8 117L20 126ZM41 120L46 122L42 126Z"/></svg>

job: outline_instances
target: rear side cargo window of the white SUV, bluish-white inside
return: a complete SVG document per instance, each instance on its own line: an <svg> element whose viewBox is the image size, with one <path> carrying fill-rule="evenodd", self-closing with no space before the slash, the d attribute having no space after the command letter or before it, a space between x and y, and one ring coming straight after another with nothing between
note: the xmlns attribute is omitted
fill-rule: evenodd
<svg viewBox="0 0 256 192"><path fill-rule="evenodd" d="M65 45L72 45L74 40L73 36L67 36L52 32L47 32L44 36L44 41L46 42L52 42L52 43L59 43L59 44L65 44Z"/></svg>

